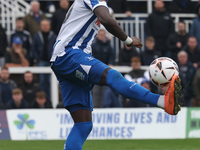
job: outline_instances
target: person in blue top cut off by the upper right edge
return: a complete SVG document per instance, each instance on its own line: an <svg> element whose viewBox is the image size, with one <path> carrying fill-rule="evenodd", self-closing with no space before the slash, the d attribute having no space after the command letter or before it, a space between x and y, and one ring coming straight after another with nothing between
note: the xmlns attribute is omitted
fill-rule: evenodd
<svg viewBox="0 0 200 150"><path fill-rule="evenodd" d="M190 29L190 35L196 37L198 46L200 47L200 6L198 17L193 20L193 24Z"/></svg>

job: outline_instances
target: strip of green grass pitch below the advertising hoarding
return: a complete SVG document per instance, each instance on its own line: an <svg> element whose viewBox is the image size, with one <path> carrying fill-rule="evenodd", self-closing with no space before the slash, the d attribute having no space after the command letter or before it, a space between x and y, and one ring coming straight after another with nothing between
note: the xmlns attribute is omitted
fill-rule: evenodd
<svg viewBox="0 0 200 150"><path fill-rule="evenodd" d="M0 150L63 150L65 141L0 141ZM200 139L88 140L83 150L199 150Z"/></svg>

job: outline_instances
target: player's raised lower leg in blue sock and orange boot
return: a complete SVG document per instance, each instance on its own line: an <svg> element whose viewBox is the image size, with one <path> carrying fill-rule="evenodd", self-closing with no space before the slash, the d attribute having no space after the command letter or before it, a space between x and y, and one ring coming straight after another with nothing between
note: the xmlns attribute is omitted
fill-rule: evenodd
<svg viewBox="0 0 200 150"><path fill-rule="evenodd" d="M171 82L171 86L165 96L154 94L144 87L126 80L121 73L110 69L106 75L106 84L116 90L121 95L129 99L137 99L141 102L151 104L165 109L169 114L175 115L179 111L176 94L178 92L178 78L175 76ZM177 86L177 87L175 87Z"/></svg>

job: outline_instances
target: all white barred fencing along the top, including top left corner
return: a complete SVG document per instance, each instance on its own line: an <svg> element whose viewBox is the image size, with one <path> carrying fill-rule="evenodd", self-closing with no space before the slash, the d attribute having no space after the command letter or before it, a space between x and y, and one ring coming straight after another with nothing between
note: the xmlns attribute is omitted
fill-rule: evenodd
<svg viewBox="0 0 200 150"><path fill-rule="evenodd" d="M136 1L136 0L132 0ZM143 0L148 4L152 4L154 0ZM169 0L168 0L169 1ZM6 29L8 37L15 29L15 19L19 16L24 16L30 10L30 5L23 0L0 0L1 8L1 24ZM151 10L152 11L152 10ZM50 15L51 16L51 15ZM195 14L171 14L174 18L175 27L179 20L184 20L186 23L186 30L189 31L189 26L192 23L192 19ZM132 14L131 18L127 18L125 14L115 14L115 18L123 30L129 34L129 36L137 36L141 38L142 43L145 40L145 23L148 13ZM116 62L118 61L119 49L123 48L123 43L113 38L112 46L116 52ZM144 47L141 49L144 50Z"/></svg>

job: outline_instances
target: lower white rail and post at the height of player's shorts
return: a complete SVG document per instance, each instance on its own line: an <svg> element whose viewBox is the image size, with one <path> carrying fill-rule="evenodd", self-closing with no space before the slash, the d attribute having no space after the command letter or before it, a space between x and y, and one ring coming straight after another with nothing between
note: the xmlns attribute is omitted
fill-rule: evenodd
<svg viewBox="0 0 200 150"><path fill-rule="evenodd" d="M128 73L132 70L129 66L113 66L113 69L121 72L121 73ZM142 66L142 69L148 69L147 66ZM50 74L50 85L51 85L51 101L53 108L56 108L59 102L59 85L54 75L53 71L50 67L10 67L9 72L10 74L24 74L26 71L30 71L33 74Z"/></svg>

